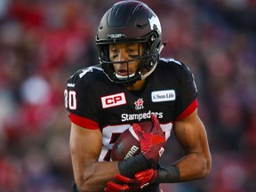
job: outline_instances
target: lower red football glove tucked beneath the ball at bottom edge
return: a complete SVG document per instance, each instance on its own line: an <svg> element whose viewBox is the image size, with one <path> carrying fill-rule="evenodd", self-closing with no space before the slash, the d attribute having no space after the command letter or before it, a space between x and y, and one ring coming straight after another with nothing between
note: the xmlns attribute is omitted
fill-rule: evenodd
<svg viewBox="0 0 256 192"><path fill-rule="evenodd" d="M121 174L116 174L114 178L123 184L117 184L114 181L108 181L105 192L127 192L140 188L146 188L155 182L157 171L153 169L145 170L135 174L135 178L128 178Z"/></svg>

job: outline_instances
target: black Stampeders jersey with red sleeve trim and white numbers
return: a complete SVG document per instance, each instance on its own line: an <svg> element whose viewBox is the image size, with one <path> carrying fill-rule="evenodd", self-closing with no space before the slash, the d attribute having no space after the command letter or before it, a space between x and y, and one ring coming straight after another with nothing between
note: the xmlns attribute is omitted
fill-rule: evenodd
<svg viewBox="0 0 256 192"><path fill-rule="evenodd" d="M100 67L83 68L71 76L64 92L70 120L87 129L100 129L102 150L99 161L109 161L116 138L132 123L158 118L166 140L174 121L197 107L196 84L180 61L161 59L140 91L128 91L111 82Z"/></svg>

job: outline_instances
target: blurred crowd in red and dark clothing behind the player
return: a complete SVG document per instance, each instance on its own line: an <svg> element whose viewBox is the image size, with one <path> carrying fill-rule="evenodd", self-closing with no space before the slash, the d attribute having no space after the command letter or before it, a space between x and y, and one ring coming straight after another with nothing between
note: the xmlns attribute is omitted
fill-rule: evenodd
<svg viewBox="0 0 256 192"><path fill-rule="evenodd" d="M68 192L73 172L66 80L99 63L100 18L117 0L0 0L0 191ZM162 23L162 56L196 77L212 172L165 192L256 191L256 2L145 0ZM92 84L93 86L93 84ZM163 163L182 154L174 137Z"/></svg>

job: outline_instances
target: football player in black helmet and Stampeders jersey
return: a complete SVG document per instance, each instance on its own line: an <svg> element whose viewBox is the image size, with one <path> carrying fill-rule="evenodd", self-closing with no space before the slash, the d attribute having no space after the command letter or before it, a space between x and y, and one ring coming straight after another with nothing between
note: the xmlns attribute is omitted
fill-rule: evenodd
<svg viewBox="0 0 256 192"><path fill-rule="evenodd" d="M100 64L78 70L64 92L73 190L156 192L160 183L205 178L212 159L196 84L183 63L160 58L164 43L155 12L139 1L114 4L100 21L96 44ZM149 119L154 127L146 133L137 123ZM140 154L110 159L117 136L131 125ZM160 166L172 129L185 156Z"/></svg>

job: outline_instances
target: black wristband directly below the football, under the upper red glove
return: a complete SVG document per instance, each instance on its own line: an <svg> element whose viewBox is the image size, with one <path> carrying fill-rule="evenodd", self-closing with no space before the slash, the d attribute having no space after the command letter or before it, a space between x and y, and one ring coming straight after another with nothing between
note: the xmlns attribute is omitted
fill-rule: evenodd
<svg viewBox="0 0 256 192"><path fill-rule="evenodd" d="M148 160L141 153L118 163L119 172L127 177L134 177L135 173L149 168Z"/></svg>

